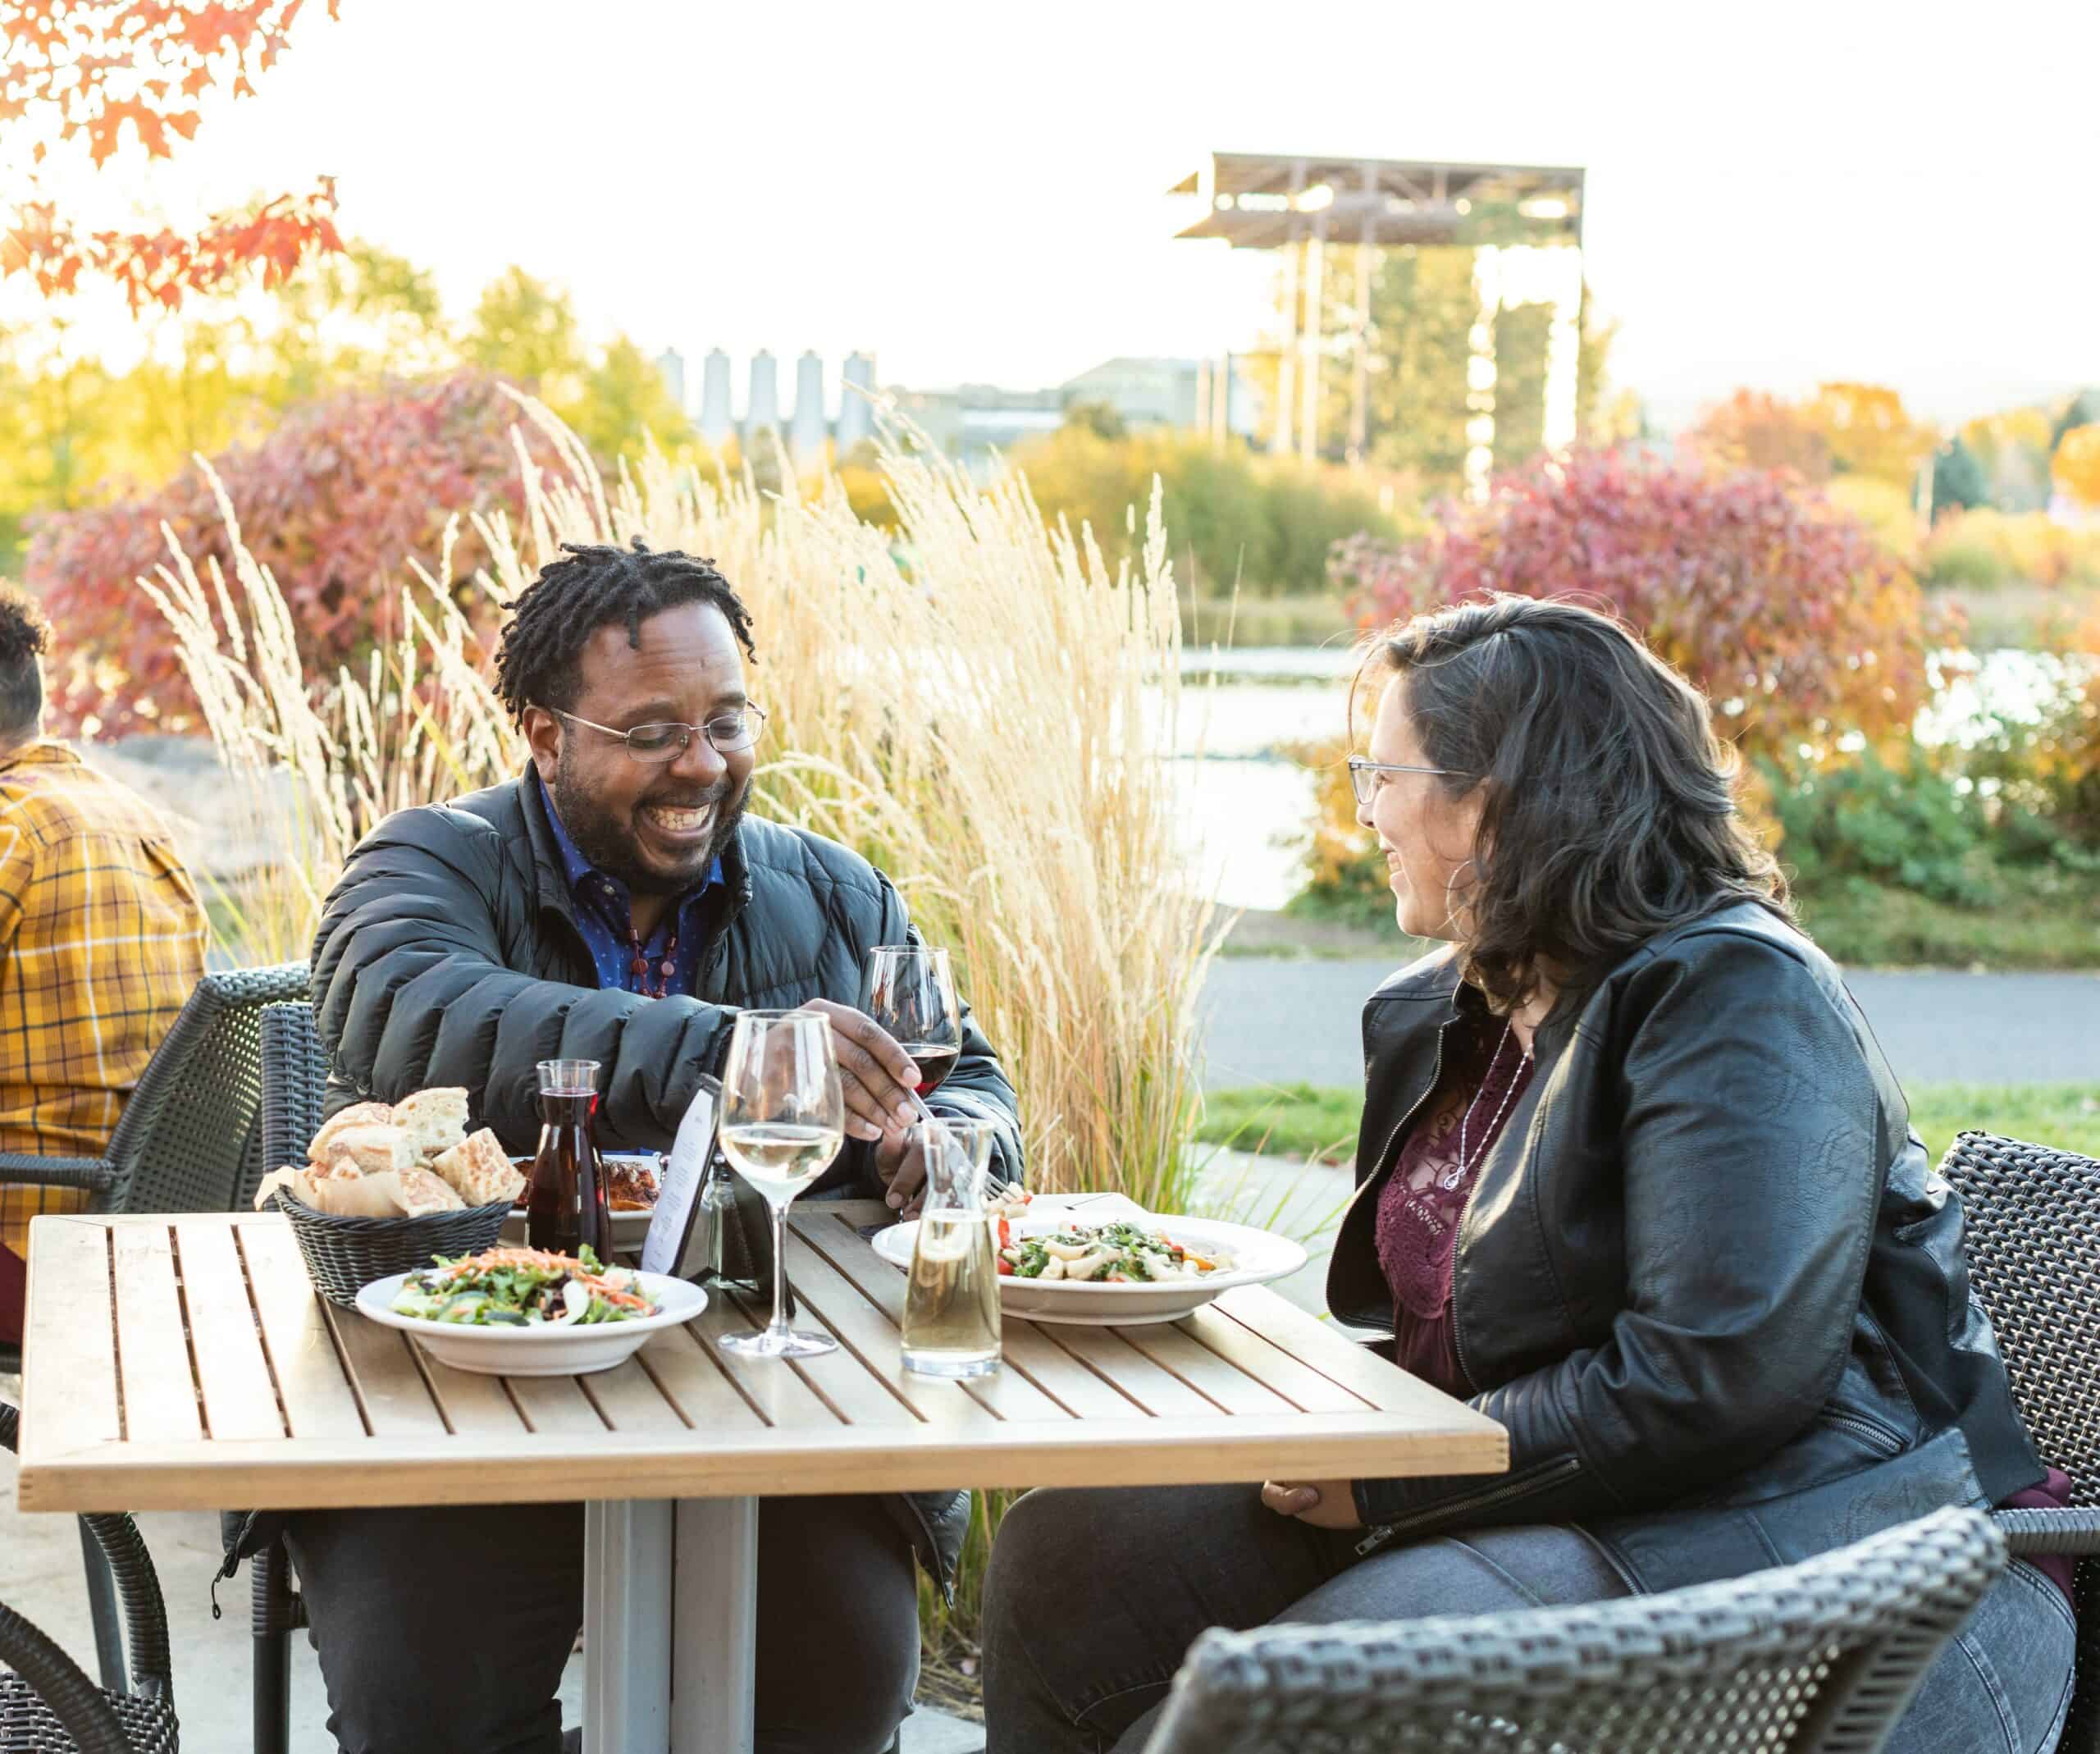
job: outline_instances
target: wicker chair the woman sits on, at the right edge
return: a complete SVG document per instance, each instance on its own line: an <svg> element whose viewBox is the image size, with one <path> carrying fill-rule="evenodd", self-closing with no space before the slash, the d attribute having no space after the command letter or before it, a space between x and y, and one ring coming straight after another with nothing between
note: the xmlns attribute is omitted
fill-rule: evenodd
<svg viewBox="0 0 2100 1754"><path fill-rule="evenodd" d="M1968 1216L1970 1283L1997 1330L2020 1416L2071 1475L2071 1510L2001 1510L2022 1552L2100 1554L2100 1162L1964 1132L1940 1174ZM2100 1754L2100 1563L2077 1567L2079 1683L2062 1754Z"/></svg>

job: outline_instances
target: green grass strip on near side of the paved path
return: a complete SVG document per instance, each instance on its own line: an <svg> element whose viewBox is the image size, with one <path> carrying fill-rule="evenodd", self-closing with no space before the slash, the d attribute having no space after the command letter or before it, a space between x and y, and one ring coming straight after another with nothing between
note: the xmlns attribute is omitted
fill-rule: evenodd
<svg viewBox="0 0 2100 1754"><path fill-rule="evenodd" d="M1964 1128L2100 1157L2100 1084L1926 1084L1909 1094L1911 1126L1934 1162ZM1218 1090L1205 1099L1197 1136L1235 1151L1342 1162L1357 1151L1361 1111L1361 1090Z"/></svg>

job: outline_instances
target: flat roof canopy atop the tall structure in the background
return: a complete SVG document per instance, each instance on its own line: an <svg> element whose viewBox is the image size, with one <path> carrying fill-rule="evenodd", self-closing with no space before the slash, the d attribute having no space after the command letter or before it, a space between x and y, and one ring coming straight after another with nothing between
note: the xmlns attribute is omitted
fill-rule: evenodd
<svg viewBox="0 0 2100 1754"><path fill-rule="evenodd" d="M1168 193L1199 195L1205 208L1176 235L1222 237L1235 250L1279 250L1315 229L1378 244L1470 244L1480 221L1508 221L1512 210L1525 242L1581 242L1579 166L1220 151Z"/></svg>

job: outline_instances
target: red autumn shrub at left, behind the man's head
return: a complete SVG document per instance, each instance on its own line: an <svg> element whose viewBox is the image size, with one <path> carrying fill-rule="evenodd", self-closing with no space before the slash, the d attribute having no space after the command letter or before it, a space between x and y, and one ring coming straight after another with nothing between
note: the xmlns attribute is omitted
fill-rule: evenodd
<svg viewBox="0 0 2100 1754"><path fill-rule="evenodd" d="M487 557L464 519L523 508L512 429L533 458L544 439L483 372L355 389L298 408L256 445L212 458L250 552L267 565L298 624L307 674L334 676L397 632L393 580L410 559L433 573L445 521L460 513L454 578ZM122 735L197 729L197 702L174 639L139 588L166 563L162 525L204 573L216 557L231 580L231 542L195 464L166 487L32 525L23 567L52 622L55 729ZM494 611L462 592L481 626Z"/></svg>

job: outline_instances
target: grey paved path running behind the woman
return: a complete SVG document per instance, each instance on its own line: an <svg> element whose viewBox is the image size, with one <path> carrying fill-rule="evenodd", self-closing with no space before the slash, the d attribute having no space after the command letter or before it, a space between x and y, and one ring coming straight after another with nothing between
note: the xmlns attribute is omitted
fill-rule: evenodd
<svg viewBox="0 0 2100 1754"><path fill-rule="evenodd" d="M1390 962L1226 956L1203 989L1208 1090L1361 1084L1363 998ZM1907 1084L2100 1082L2100 975L1854 973Z"/></svg>

